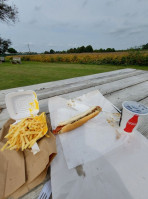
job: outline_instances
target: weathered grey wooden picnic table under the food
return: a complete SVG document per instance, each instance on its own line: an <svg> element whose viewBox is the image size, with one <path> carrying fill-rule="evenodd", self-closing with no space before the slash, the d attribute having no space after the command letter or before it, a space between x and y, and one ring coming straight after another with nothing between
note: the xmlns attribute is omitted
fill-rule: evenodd
<svg viewBox="0 0 148 199"><path fill-rule="evenodd" d="M13 88L0 91L0 128L9 118L5 105L5 95L18 90L34 90L37 93L40 111L48 111L48 98L61 96L66 99L78 97L93 90L99 90L117 108L122 108L125 100L134 100L148 106L148 71L136 69L121 69L106 73L76 77L66 80L47 82L21 88ZM148 119L141 122L138 131L148 138ZM46 180L50 175L47 175ZM46 181L45 180L45 181ZM44 182L45 182L44 181ZM44 182L31 190L22 199L38 198Z"/></svg>

